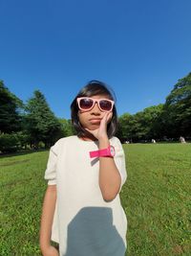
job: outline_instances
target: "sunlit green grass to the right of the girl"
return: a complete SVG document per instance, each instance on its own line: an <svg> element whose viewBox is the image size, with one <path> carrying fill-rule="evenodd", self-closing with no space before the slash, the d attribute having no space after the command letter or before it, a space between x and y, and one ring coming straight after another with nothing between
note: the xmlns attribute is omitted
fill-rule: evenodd
<svg viewBox="0 0 191 256"><path fill-rule="evenodd" d="M191 145L126 145L130 256L191 255Z"/></svg>

